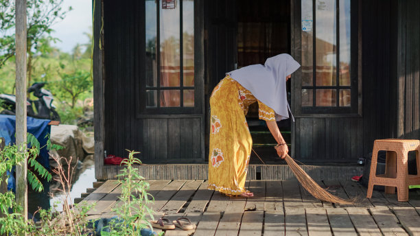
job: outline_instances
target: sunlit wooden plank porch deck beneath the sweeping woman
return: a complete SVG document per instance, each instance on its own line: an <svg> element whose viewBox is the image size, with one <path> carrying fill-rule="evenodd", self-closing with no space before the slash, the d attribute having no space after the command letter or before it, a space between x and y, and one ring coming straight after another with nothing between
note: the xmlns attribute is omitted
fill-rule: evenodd
<svg viewBox="0 0 420 236"><path fill-rule="evenodd" d="M180 229L165 235L420 235L420 191L410 191L409 202L355 182L319 182L342 198L358 197L351 205L321 202L294 180L246 182L254 198L229 198L207 190L205 180L147 180L155 198L152 208L170 220L185 216L195 231ZM84 202L96 203L89 218L111 217L121 187L107 180Z"/></svg>

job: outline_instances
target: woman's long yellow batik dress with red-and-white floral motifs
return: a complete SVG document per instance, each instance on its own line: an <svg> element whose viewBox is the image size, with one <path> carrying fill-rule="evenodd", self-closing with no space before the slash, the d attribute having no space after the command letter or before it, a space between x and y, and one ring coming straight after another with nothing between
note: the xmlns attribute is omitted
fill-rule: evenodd
<svg viewBox="0 0 420 236"><path fill-rule="evenodd" d="M253 140L245 115L258 102L259 119L275 121L275 112L226 75L210 97L209 189L239 195L244 188Z"/></svg>

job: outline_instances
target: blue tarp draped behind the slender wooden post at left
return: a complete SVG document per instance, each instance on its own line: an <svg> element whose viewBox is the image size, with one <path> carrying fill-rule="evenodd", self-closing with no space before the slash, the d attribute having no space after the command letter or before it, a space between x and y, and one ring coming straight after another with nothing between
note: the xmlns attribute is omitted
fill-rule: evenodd
<svg viewBox="0 0 420 236"><path fill-rule="evenodd" d="M47 134L51 133L51 126L48 125L49 119L35 119L27 117L27 132L31 133L38 139L40 147L47 144ZM0 115L0 137L5 139L5 145L13 145L16 143L16 117L14 115ZM49 169L49 156L47 147L40 150L38 158L36 158L43 167ZM8 181L8 188L14 189L14 178L11 175Z"/></svg>

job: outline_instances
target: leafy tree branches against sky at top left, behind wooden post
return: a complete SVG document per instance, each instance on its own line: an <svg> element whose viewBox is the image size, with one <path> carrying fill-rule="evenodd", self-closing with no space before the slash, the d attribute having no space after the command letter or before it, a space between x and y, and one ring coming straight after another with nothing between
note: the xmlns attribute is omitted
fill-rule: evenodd
<svg viewBox="0 0 420 236"><path fill-rule="evenodd" d="M51 26L65 18L67 10L61 5L64 0L27 0L27 86L32 79L34 54L42 53L49 41L58 40L51 36ZM0 0L0 68L14 56L14 1Z"/></svg>

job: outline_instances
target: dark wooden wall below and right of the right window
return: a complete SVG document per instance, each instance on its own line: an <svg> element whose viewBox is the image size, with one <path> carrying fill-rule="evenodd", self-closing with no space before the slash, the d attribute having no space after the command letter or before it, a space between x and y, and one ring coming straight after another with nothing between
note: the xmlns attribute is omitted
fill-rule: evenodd
<svg viewBox="0 0 420 236"><path fill-rule="evenodd" d="M395 1L368 0L359 4L361 112L297 117L292 148L294 156L303 161L353 163L372 152L375 139L395 137ZM295 12L292 53L300 60L300 1L294 1L292 7ZM296 104L292 107L299 109Z"/></svg>

